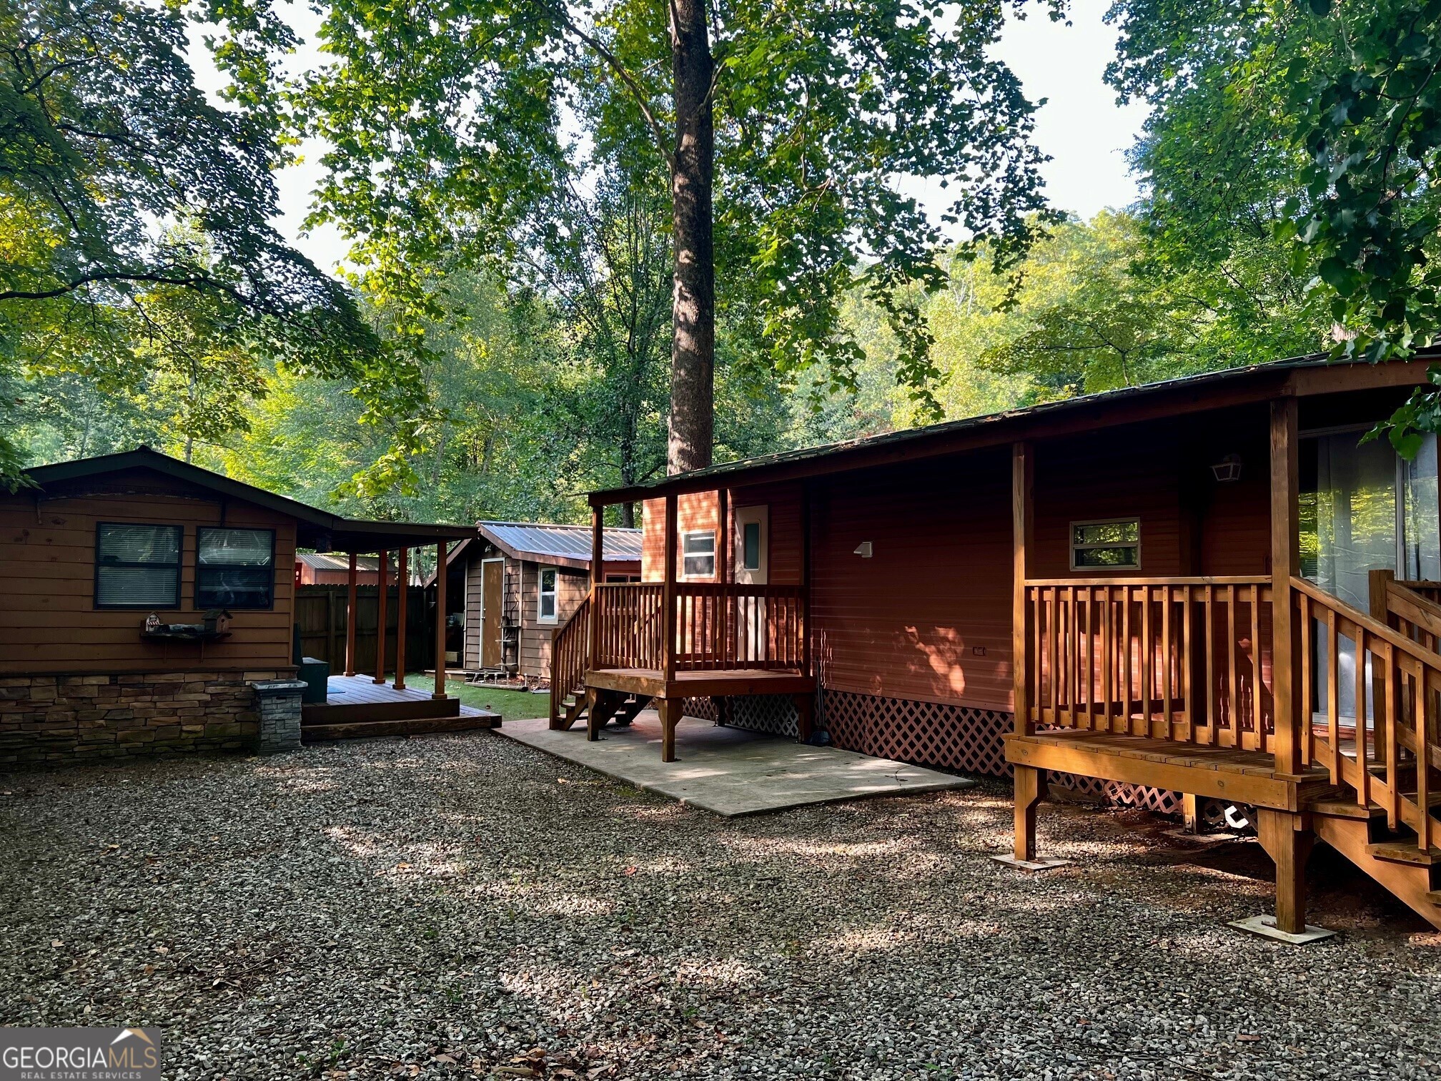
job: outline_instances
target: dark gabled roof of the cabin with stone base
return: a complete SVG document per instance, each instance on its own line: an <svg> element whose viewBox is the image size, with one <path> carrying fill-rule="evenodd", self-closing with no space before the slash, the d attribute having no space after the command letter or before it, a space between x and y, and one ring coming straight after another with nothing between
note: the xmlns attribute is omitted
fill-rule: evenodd
<svg viewBox="0 0 1441 1081"><path fill-rule="evenodd" d="M59 461L53 466L36 466L26 470L35 484L30 494L37 499L59 497L76 483L102 481L108 476L134 473L159 473L192 487L212 491L222 499L238 499L274 510L295 519L295 540L303 548L334 552L379 552L389 548L415 548L438 540L474 536L471 526L422 525L415 522L373 522L360 517L344 517L329 510L320 510L308 503L300 503L274 491L245 484L239 480L212 473L171 458L169 454L140 447L120 454L101 454L94 458ZM24 494L22 489L20 494Z"/></svg>

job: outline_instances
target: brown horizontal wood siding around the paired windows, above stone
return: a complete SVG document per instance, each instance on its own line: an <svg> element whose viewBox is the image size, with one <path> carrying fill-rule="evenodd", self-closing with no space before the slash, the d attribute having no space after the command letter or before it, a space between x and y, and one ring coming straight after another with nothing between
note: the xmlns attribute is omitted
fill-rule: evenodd
<svg viewBox="0 0 1441 1081"><path fill-rule="evenodd" d="M0 672L182 672L277 669L291 664L295 522L271 510L193 494L88 494L32 502L0 497ZM143 522L184 528L180 608L166 623L199 623L195 607L195 543L199 526L262 526L275 530L275 605L235 611L223 641L146 641L147 613L95 608L95 525ZM203 649L203 653L202 653Z"/></svg>

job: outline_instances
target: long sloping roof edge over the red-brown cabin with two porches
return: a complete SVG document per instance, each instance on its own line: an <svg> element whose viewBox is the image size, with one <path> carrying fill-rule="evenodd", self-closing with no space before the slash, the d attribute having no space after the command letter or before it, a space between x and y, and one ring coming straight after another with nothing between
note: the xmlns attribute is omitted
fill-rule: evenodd
<svg viewBox="0 0 1441 1081"><path fill-rule="evenodd" d="M994 447L1016 440L1095 431L1147 418L1179 417L1285 395L1418 386L1427 382L1428 363L1438 357L1441 353L1437 350L1424 350L1412 360L1369 365L1359 360L1331 362L1326 355L1317 353L1203 372L1141 386L1079 395L1059 402L942 421L924 428L725 461L628 489L592 491L589 502L592 507L598 507L689 491L798 480Z"/></svg>

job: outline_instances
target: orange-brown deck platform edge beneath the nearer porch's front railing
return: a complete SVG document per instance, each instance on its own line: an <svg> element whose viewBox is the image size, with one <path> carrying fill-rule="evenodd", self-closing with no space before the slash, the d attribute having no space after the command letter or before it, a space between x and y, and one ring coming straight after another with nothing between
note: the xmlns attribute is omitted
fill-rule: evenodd
<svg viewBox="0 0 1441 1081"><path fill-rule="evenodd" d="M1235 747L1200 747L1176 739L1066 729L1007 735L1006 761L1036 770L1055 770L1107 781L1249 803L1257 807L1298 811L1330 778L1313 768L1278 774L1275 757Z"/></svg>

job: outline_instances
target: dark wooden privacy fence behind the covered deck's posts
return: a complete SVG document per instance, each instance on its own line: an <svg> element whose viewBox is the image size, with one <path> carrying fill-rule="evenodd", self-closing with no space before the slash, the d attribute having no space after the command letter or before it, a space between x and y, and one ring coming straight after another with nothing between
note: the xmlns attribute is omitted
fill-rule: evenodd
<svg viewBox="0 0 1441 1081"><path fill-rule="evenodd" d="M425 588L411 585L406 597L405 667L412 672L435 667L434 613ZM386 672L395 670L395 628L398 587L386 597ZM331 673L346 667L344 585L301 585L295 590L295 624L300 627L301 654L330 663ZM356 588L356 672L376 669L376 607L379 587Z"/></svg>

